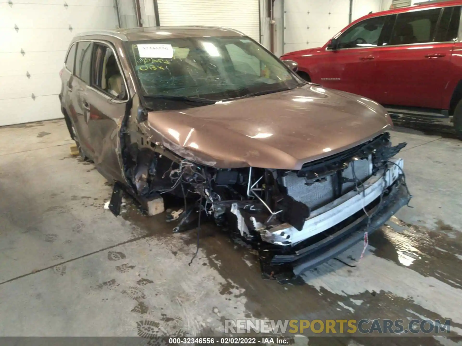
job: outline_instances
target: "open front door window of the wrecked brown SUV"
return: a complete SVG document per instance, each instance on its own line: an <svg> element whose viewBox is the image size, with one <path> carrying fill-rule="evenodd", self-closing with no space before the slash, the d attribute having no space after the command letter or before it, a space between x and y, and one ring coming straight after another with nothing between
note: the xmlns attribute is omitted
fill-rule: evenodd
<svg viewBox="0 0 462 346"><path fill-rule="evenodd" d="M113 50L104 44L95 43L92 66L91 85L111 97L123 100L125 88Z"/></svg>

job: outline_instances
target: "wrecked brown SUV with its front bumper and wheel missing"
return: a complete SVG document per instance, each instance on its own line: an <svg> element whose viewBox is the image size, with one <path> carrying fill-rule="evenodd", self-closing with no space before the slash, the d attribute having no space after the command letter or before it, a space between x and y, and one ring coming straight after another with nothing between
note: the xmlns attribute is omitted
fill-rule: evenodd
<svg viewBox="0 0 462 346"><path fill-rule="evenodd" d="M61 109L81 155L115 183L115 215L123 191L150 214L176 196L174 232L213 220L284 281L411 197L384 108L285 63L224 28L88 32L67 52Z"/></svg>

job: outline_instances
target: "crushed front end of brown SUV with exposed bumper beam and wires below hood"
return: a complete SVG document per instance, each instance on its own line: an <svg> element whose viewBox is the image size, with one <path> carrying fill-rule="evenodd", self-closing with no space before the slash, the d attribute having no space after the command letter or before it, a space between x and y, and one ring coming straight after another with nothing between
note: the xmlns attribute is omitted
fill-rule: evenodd
<svg viewBox="0 0 462 346"><path fill-rule="evenodd" d="M259 251L264 278L281 282L337 256L382 226L411 196L402 159L406 143L388 132L299 170L218 169L141 140L127 176L149 200L184 199L175 232L214 220ZM200 222L200 221L199 221Z"/></svg>

